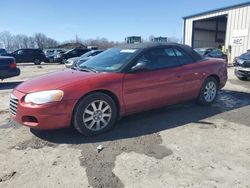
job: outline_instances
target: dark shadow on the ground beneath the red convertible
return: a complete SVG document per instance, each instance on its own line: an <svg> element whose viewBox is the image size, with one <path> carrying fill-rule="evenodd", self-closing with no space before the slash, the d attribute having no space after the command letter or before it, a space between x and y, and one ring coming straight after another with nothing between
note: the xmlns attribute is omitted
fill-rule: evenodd
<svg viewBox="0 0 250 188"><path fill-rule="evenodd" d="M73 128L31 132L46 141L57 144L84 144L128 139L183 126L188 123L210 124L204 119L250 105L250 93L222 90L211 106L186 102L124 117L114 129L101 135L85 137Z"/></svg>

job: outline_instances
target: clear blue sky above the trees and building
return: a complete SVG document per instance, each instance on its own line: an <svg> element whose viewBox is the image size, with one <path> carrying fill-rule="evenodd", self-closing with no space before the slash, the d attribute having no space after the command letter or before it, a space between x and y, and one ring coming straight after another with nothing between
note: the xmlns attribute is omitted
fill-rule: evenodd
<svg viewBox="0 0 250 188"><path fill-rule="evenodd" d="M0 31L58 41L150 35L182 38L183 16L246 0L1 0Z"/></svg>

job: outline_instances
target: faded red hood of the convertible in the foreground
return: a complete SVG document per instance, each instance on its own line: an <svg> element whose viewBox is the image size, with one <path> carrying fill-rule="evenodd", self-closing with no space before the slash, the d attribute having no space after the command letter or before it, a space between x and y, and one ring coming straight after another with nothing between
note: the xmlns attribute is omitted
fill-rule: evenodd
<svg viewBox="0 0 250 188"><path fill-rule="evenodd" d="M63 86L74 83L76 81L88 80L89 78L100 76L100 74L101 73L64 69L59 72L46 74L25 81L22 84L18 85L16 87L16 90L23 93L32 93L38 91L60 89Z"/></svg>

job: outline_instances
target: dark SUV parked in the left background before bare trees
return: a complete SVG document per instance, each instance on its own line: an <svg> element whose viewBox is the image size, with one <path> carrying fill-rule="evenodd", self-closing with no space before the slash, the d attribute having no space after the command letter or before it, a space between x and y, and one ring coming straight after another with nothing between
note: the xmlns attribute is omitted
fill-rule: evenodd
<svg viewBox="0 0 250 188"><path fill-rule="evenodd" d="M34 62L35 65L40 65L46 60L44 52L40 49L20 49L4 56L14 57L17 63Z"/></svg>

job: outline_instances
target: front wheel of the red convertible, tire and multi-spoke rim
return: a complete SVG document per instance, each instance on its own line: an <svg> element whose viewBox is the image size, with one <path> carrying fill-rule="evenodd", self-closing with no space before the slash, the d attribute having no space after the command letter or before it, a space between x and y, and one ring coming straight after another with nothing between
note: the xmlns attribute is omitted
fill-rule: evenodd
<svg viewBox="0 0 250 188"><path fill-rule="evenodd" d="M117 112L117 105L109 95L96 92L78 102L73 113L73 126L85 136L101 134L114 126Z"/></svg>

